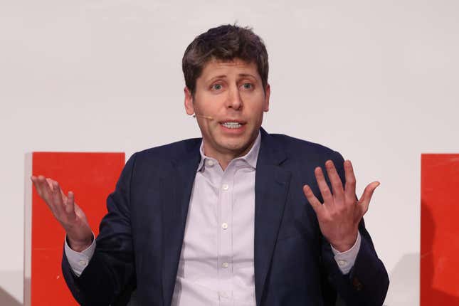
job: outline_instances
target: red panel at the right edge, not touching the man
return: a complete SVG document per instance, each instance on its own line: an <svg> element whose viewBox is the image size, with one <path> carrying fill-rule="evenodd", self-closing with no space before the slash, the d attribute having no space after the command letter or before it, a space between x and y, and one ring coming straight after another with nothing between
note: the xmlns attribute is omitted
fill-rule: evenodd
<svg viewBox="0 0 459 306"><path fill-rule="evenodd" d="M421 157L421 306L459 305L459 154Z"/></svg>

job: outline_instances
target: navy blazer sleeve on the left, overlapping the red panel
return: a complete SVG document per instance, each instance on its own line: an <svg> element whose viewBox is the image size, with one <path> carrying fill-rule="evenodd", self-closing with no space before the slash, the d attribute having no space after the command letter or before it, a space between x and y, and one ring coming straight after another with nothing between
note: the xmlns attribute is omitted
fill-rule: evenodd
<svg viewBox="0 0 459 306"><path fill-rule="evenodd" d="M130 184L136 154L127 161L115 191L107 198L107 214L100 223L96 248L88 266L76 277L65 253L62 270L70 291L81 305L113 305L135 287Z"/></svg>

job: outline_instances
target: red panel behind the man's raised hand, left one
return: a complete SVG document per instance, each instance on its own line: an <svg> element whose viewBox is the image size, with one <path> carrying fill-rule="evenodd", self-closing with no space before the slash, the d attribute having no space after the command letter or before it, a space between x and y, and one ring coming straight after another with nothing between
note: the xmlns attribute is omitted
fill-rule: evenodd
<svg viewBox="0 0 459 306"><path fill-rule="evenodd" d="M124 153L34 152L33 175L51 177L73 191L97 235L105 199L125 164ZM36 190L32 195L31 305L78 305L60 270L65 232Z"/></svg>

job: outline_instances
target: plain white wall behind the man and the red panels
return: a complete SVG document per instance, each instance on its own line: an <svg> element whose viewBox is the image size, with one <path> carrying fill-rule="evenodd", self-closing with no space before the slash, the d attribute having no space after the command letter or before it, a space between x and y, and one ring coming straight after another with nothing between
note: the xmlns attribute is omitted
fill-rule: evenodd
<svg viewBox="0 0 459 306"><path fill-rule="evenodd" d="M22 300L24 154L199 136L181 56L237 21L270 54L265 129L339 150L359 191L381 181L366 223L386 304L418 305L420 154L459 152L459 2L286 2L0 2L0 292Z"/></svg>

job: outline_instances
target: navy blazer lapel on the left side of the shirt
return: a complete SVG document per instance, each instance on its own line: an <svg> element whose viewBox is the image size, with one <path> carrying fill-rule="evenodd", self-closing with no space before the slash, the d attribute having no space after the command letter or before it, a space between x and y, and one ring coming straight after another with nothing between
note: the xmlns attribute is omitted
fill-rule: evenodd
<svg viewBox="0 0 459 306"><path fill-rule="evenodd" d="M174 187L173 196L163 203L163 266L162 290L164 305L170 305L174 293L181 246L184 240L186 215L188 214L191 189L193 189L196 169L201 156L196 142L187 149L186 154L173 162L174 173L169 184Z"/></svg>

